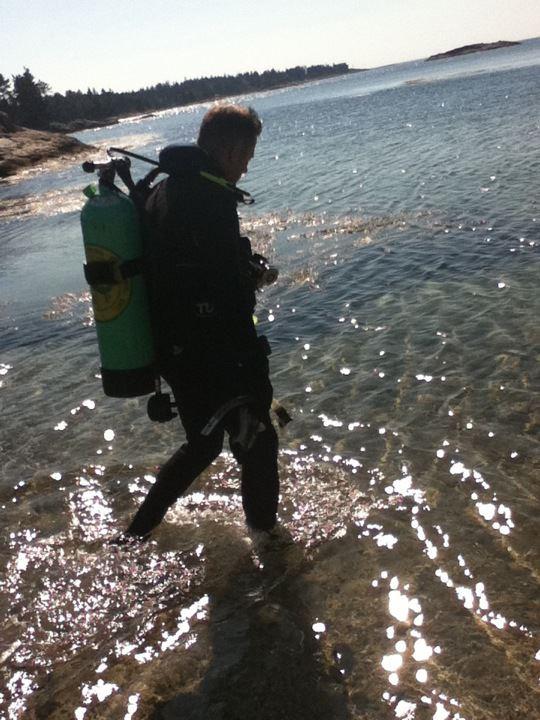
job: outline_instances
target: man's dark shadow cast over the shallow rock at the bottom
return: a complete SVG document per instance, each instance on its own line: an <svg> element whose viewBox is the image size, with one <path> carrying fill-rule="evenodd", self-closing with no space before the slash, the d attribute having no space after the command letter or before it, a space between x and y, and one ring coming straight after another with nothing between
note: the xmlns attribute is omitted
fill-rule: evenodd
<svg viewBox="0 0 540 720"><path fill-rule="evenodd" d="M347 693L314 639L298 547L261 554L213 596L212 660L202 681L158 707L154 720L345 720ZM309 564L309 563L307 563ZM261 577L262 575L262 577Z"/></svg>

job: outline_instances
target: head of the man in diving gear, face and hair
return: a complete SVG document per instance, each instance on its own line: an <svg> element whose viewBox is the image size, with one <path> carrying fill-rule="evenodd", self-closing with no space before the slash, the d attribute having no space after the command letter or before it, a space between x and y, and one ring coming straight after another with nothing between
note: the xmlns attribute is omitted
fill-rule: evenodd
<svg viewBox="0 0 540 720"><path fill-rule="evenodd" d="M204 116L197 141L229 182L247 172L262 123L251 107L214 105Z"/></svg>

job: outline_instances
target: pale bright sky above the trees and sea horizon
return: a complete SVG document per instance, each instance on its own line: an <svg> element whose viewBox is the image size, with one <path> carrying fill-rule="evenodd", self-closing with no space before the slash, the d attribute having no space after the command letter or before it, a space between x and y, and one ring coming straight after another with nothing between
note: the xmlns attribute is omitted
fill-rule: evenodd
<svg viewBox="0 0 540 720"><path fill-rule="evenodd" d="M0 0L0 73L122 91L538 36L540 0Z"/></svg>

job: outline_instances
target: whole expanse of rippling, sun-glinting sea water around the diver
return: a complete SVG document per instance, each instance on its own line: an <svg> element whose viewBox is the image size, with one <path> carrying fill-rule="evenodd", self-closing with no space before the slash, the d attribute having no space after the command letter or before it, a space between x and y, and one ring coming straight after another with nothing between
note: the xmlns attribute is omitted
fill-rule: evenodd
<svg viewBox="0 0 540 720"><path fill-rule="evenodd" d="M151 542L107 544L182 431L102 394L80 160L0 185L2 717L540 712L539 66L531 40L240 98L294 418L273 549L227 452ZM207 107L78 137L156 158Z"/></svg>

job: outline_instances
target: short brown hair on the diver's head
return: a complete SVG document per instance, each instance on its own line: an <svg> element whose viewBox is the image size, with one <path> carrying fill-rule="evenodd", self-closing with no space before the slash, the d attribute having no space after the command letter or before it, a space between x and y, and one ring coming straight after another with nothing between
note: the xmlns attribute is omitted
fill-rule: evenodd
<svg viewBox="0 0 540 720"><path fill-rule="evenodd" d="M214 105L202 119L197 144L213 153L238 142L255 143L261 131L261 120L252 107Z"/></svg>

